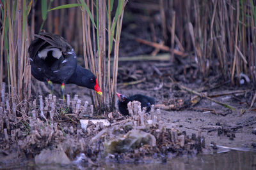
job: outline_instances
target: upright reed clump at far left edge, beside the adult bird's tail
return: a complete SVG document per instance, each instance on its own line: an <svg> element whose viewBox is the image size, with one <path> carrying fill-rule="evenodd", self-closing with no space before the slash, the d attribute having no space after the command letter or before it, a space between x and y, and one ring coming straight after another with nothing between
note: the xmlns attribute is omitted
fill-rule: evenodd
<svg viewBox="0 0 256 170"><path fill-rule="evenodd" d="M31 96L28 15L32 2L1 1L0 88L5 81L11 103Z"/></svg>

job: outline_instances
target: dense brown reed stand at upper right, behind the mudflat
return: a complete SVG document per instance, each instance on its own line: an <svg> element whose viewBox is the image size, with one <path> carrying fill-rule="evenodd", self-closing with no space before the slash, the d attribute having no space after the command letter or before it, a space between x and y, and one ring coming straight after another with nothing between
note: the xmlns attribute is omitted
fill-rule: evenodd
<svg viewBox="0 0 256 170"><path fill-rule="evenodd" d="M249 0L159 1L166 14L161 27L168 29L162 36L170 35L171 43L165 42L172 48L181 42L195 57L202 78L220 74L239 85L245 74L255 82L255 9L255 1Z"/></svg>

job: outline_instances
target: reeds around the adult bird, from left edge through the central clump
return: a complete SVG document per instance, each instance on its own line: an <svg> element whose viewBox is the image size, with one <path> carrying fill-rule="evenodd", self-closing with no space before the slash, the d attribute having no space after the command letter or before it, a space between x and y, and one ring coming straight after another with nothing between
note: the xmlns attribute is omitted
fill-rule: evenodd
<svg viewBox="0 0 256 170"><path fill-rule="evenodd" d="M23 3L23 4L21 4ZM127 1L3 1L1 21L1 74L0 83L8 82L8 94L19 99L31 96L31 73L28 57L30 34L42 29L61 34L75 46L77 54L83 53L84 66L97 75L103 97L90 92L93 105L104 111L115 107L118 46ZM113 7L114 6L114 7ZM28 15L31 11L31 20ZM40 9L40 12L38 11ZM80 10L79 10L80 8ZM108 14L106 14L106 10ZM38 18L38 20L35 20ZM68 24L64 24L67 20ZM52 24L54 22L54 24ZM31 24L31 27L29 27ZM38 27L40 25L40 27ZM106 26L108 25L108 27ZM76 34L74 34L76 32ZM107 36L106 36L107 35ZM107 47L106 47L107 46ZM108 50L106 50L108 48ZM110 65L113 55L115 64ZM108 60L108 64L106 64ZM4 64L7 67L3 67ZM4 74L3 74L4 73ZM107 99L108 98L108 99ZM108 101L108 103L107 103Z"/></svg>

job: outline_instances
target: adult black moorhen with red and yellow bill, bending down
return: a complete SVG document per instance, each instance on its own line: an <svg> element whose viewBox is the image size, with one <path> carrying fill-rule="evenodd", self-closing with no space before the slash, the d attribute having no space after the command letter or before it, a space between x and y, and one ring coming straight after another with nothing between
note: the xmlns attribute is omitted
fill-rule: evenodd
<svg viewBox="0 0 256 170"><path fill-rule="evenodd" d="M65 83L102 92L96 76L88 69L77 66L76 53L66 39L59 35L41 32L29 46L29 59L32 75L40 81L47 81L53 90L52 83L61 84L61 96L64 97Z"/></svg>

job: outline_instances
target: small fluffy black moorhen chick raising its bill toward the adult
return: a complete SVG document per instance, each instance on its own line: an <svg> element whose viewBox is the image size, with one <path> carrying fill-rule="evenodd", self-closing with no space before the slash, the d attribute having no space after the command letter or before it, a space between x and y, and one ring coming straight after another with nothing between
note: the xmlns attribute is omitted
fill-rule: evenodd
<svg viewBox="0 0 256 170"><path fill-rule="evenodd" d="M147 112L150 111L150 106L155 104L155 99L152 97L144 96L142 94L135 94L134 96L125 97L124 94L116 93L118 96L118 108L122 115L129 115L127 104L130 101L139 101L141 103L141 109L147 107Z"/></svg>

